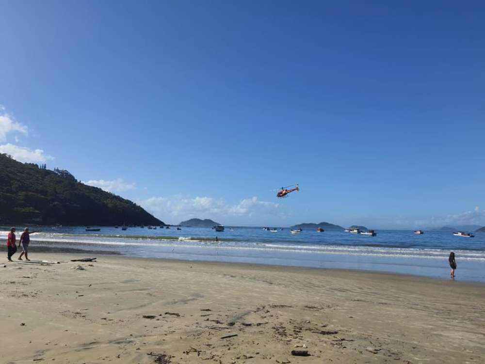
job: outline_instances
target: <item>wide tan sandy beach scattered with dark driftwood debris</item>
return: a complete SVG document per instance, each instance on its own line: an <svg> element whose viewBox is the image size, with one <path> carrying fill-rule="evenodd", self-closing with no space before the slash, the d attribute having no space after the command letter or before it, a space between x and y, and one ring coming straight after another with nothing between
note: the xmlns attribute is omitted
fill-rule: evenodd
<svg viewBox="0 0 485 364"><path fill-rule="evenodd" d="M2 363L485 360L481 284L113 255L74 263L88 255L31 254L68 263L0 265Z"/></svg>

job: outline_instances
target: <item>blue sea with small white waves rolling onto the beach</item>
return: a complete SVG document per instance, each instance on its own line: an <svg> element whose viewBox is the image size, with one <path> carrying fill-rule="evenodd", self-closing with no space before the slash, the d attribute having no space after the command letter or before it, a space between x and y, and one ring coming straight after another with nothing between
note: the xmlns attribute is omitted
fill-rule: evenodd
<svg viewBox="0 0 485 364"><path fill-rule="evenodd" d="M36 247L108 251L137 257L274 264L283 266L360 269L449 278L448 255L456 255L456 280L485 282L485 233L455 237L451 232L378 230L366 237L327 230L276 233L260 227L234 227L216 233L210 228L149 230L133 227L42 227L31 236L31 255ZM2 228L0 237L7 235ZM218 241L216 241L216 236Z"/></svg>

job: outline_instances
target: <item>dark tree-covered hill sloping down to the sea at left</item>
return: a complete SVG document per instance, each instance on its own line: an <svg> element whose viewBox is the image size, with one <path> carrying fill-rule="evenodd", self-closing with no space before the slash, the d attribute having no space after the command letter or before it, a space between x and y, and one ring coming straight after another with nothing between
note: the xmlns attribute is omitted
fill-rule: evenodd
<svg viewBox="0 0 485 364"><path fill-rule="evenodd" d="M0 224L161 225L133 202L86 186L65 170L0 154Z"/></svg>

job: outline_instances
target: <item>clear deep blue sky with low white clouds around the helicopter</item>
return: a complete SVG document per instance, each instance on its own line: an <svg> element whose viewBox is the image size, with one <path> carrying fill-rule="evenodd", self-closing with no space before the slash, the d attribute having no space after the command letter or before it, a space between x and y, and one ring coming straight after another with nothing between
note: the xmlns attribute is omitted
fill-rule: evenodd
<svg viewBox="0 0 485 364"><path fill-rule="evenodd" d="M19 160L169 223L485 225L483 2L1 12L0 151Z"/></svg>

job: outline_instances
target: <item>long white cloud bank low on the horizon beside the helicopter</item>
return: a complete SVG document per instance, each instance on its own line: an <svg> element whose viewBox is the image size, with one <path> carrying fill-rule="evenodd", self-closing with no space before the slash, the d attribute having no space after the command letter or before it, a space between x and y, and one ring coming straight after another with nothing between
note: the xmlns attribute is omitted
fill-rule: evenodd
<svg viewBox="0 0 485 364"><path fill-rule="evenodd" d="M138 201L140 206L162 220L180 222L191 218L212 219L221 223L263 223L277 216L283 217L280 205L259 201L257 197L245 198L238 204L228 204L212 197L150 197Z"/></svg>

